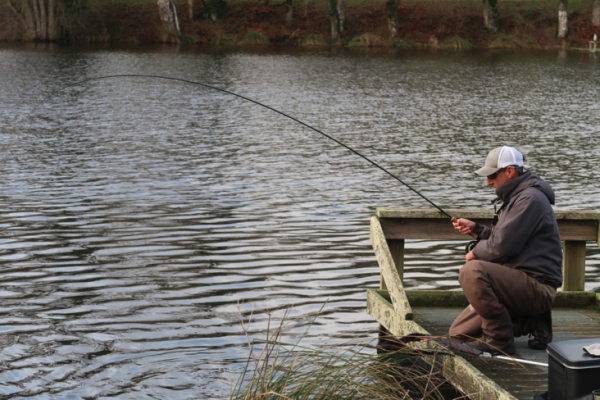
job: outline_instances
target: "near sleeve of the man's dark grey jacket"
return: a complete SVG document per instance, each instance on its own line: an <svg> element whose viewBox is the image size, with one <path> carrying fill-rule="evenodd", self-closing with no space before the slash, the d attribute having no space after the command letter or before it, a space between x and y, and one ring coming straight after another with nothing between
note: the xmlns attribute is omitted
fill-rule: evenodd
<svg viewBox="0 0 600 400"><path fill-rule="evenodd" d="M473 249L480 260L506 263L519 255L542 220L542 210L533 196L521 196L506 210L501 223L487 240L481 240Z"/></svg>

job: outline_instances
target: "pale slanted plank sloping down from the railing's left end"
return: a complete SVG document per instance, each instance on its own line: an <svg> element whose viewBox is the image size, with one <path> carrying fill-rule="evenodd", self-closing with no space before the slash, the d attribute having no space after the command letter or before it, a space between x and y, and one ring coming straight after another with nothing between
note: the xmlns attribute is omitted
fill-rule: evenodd
<svg viewBox="0 0 600 400"><path fill-rule="evenodd" d="M375 257L381 268L381 274L385 280L385 284L390 292L392 303L399 316L403 319L410 320L413 317L412 309L404 293L402 281L394 265L394 260L390 249L383 235L383 230L379 224L377 217L371 218L371 243L375 251Z"/></svg>

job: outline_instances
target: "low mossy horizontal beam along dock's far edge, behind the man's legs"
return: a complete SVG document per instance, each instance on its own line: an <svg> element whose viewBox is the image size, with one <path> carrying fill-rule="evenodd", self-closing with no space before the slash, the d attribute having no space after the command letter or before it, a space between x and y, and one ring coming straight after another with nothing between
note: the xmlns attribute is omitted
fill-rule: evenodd
<svg viewBox="0 0 600 400"><path fill-rule="evenodd" d="M387 290L377 290L377 294L391 302ZM465 293L458 290L405 290L411 307L466 307L469 301ZM552 308L579 308L600 306L600 293L557 292Z"/></svg>

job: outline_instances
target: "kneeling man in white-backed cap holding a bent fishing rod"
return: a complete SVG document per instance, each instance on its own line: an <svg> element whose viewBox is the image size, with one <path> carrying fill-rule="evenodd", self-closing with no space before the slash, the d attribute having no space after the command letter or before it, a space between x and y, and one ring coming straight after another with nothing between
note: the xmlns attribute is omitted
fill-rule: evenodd
<svg viewBox="0 0 600 400"><path fill-rule="evenodd" d="M512 147L492 150L483 168L502 201L493 229L467 219L454 222L479 241L466 255L459 282L469 300L450 327L450 338L487 352L516 352L514 337L533 334L529 347L552 340L550 306L562 285L562 247L554 191L531 171ZM496 218L495 218L496 220Z"/></svg>

